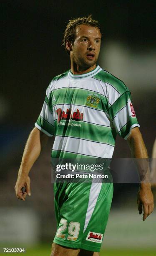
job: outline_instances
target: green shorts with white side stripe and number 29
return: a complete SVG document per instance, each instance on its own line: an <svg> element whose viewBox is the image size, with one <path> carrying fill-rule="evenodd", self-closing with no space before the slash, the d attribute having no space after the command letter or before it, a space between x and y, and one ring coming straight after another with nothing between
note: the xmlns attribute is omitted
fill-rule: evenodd
<svg viewBox="0 0 156 256"><path fill-rule="evenodd" d="M113 183L55 183L58 230L54 243L99 252L113 197Z"/></svg>

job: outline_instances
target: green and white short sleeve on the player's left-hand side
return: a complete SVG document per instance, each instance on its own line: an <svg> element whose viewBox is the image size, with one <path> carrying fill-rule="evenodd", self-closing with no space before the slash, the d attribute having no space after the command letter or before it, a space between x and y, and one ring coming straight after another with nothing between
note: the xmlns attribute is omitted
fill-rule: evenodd
<svg viewBox="0 0 156 256"><path fill-rule="evenodd" d="M35 123L35 126L48 136L53 136L54 133L54 120L53 120L53 108L50 103L49 87L46 90L45 101L43 103L42 110Z"/></svg>

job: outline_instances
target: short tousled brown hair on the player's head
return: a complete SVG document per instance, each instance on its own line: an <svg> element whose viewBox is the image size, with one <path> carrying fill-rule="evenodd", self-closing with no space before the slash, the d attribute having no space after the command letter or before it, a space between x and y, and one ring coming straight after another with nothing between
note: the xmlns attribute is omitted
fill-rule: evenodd
<svg viewBox="0 0 156 256"><path fill-rule="evenodd" d="M67 51L68 54L70 54L70 51L67 50L66 48L66 40L69 40L70 43L73 43L75 40L76 36L76 27L80 26L82 24L86 24L88 26L92 27L97 27L100 31L100 24L98 20L93 20L91 14L88 17L83 17L83 18L76 18L76 19L71 19L68 21L68 24L66 26L65 32L64 32L64 38L63 38L63 46L65 47L65 50Z"/></svg>

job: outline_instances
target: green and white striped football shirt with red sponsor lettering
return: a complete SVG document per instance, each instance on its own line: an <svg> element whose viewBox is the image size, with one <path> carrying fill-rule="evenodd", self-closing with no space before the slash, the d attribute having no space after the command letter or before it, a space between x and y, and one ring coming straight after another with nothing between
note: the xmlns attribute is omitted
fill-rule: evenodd
<svg viewBox="0 0 156 256"><path fill-rule="evenodd" d="M109 158L116 135L127 139L138 125L126 85L97 66L53 78L35 126L55 135L53 158Z"/></svg>

